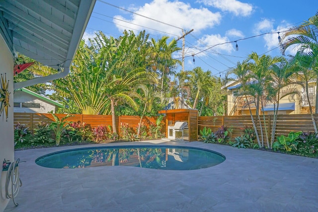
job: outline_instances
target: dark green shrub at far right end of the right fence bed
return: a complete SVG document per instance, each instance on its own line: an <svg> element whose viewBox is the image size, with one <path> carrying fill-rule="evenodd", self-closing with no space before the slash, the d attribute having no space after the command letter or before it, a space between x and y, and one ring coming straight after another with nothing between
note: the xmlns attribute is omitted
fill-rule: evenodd
<svg viewBox="0 0 318 212"><path fill-rule="evenodd" d="M313 132L303 132L299 135L298 151L301 154L314 154L318 152L318 134Z"/></svg>

